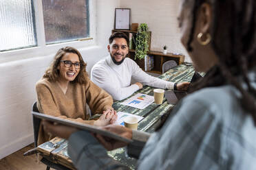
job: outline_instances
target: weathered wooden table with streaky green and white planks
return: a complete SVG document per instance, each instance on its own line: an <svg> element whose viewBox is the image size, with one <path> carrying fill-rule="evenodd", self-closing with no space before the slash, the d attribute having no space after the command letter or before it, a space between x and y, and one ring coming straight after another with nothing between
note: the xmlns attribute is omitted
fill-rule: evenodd
<svg viewBox="0 0 256 170"><path fill-rule="evenodd" d="M159 78L171 82L190 82L193 73L193 66L186 66L184 64L181 64L173 69L170 69L163 75L160 75ZM154 88L152 87L144 86L141 90L138 90L136 93L134 93L134 95L136 95L137 93L153 95L153 89ZM138 130L142 130L145 132L154 132L156 130L156 127L160 123L160 117L162 116L162 114L169 112L173 108L173 105L168 104L165 97L161 105L153 103L142 110L122 105L120 104L122 101L114 102L113 108L117 112L128 112L131 114L136 114L141 117L145 117L138 124ZM56 144L55 147L54 144ZM70 160L67 154L67 145L68 143L64 139L53 138L51 141L48 141L40 145L38 147L38 150L45 158L48 158L53 162L64 165L65 167L69 167L70 169L75 169L72 165L72 160ZM131 167L131 169L134 169L136 167L136 159L129 158L127 156L125 152L125 147L115 149L114 151L109 151L108 154L115 160L118 160L123 164Z"/></svg>

